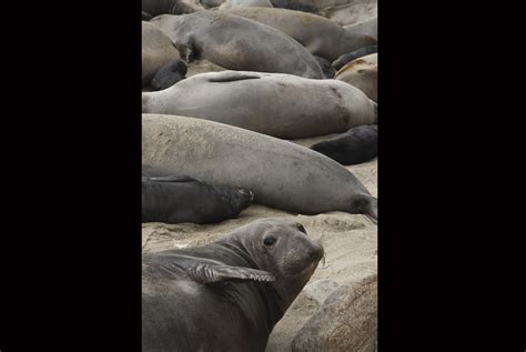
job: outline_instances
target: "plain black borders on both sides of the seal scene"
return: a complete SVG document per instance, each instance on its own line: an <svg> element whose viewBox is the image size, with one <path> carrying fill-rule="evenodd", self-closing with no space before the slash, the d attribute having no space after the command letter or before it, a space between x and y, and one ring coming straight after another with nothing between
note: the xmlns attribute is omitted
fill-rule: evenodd
<svg viewBox="0 0 526 352"><path fill-rule="evenodd" d="M2 352L141 349L135 2L4 9ZM378 6L381 351L526 348L520 20L463 4Z"/></svg>

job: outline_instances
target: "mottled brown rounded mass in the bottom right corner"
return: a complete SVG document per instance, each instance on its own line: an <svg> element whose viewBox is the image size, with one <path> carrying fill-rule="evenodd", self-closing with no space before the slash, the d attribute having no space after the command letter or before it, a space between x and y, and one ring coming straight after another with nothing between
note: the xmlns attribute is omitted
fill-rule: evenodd
<svg viewBox="0 0 526 352"><path fill-rule="evenodd" d="M376 351L377 275L331 294L292 341L293 352Z"/></svg>

